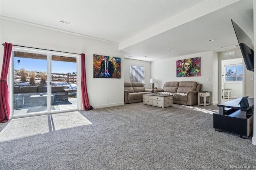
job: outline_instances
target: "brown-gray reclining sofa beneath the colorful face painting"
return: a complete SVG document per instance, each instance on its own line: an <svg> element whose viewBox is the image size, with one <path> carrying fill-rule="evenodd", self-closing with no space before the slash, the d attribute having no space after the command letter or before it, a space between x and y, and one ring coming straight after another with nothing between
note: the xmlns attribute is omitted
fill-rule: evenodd
<svg viewBox="0 0 256 170"><path fill-rule="evenodd" d="M192 106L198 104L201 86L196 81L167 81L163 89L154 89L154 93L172 94L173 103Z"/></svg>

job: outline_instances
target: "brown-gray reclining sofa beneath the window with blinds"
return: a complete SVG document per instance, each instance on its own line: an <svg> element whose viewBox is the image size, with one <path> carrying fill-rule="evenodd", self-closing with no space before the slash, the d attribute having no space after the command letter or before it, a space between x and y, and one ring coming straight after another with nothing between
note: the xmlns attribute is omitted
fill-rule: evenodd
<svg viewBox="0 0 256 170"><path fill-rule="evenodd" d="M141 82L124 82L124 104L142 102L146 93L154 93L154 89L145 89Z"/></svg>

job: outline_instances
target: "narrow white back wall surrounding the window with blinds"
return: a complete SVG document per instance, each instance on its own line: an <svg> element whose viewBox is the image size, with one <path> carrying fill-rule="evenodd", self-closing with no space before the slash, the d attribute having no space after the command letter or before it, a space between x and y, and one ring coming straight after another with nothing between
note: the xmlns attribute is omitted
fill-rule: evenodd
<svg viewBox="0 0 256 170"><path fill-rule="evenodd" d="M124 69L124 81L130 82L130 65L137 65L137 66L144 66L145 67L145 85L146 89L152 88L150 83L150 72L151 72L151 62L148 61L141 61L136 59L128 59L124 58L124 62L122 64L121 69Z"/></svg>

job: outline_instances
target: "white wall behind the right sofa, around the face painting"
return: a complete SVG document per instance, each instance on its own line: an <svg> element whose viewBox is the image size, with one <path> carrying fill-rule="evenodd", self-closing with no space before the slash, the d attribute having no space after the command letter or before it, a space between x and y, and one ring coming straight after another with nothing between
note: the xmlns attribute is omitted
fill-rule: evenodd
<svg viewBox="0 0 256 170"><path fill-rule="evenodd" d="M176 61L181 59L188 59L194 57L201 57L201 76L199 77L176 77ZM156 87L162 88L166 81L196 81L202 84L202 91L212 91L211 101L214 104L218 103L218 79L213 70L218 70L216 65L217 54L213 51L203 53L196 53L174 57L170 59L154 61L151 63L151 77L157 79ZM214 79L213 79L214 78ZM207 81L209 79L209 81Z"/></svg>

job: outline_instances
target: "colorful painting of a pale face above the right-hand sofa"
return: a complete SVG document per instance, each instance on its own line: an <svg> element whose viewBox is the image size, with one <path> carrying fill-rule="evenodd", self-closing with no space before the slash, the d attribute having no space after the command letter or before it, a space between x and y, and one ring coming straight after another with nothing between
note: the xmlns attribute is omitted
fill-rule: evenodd
<svg viewBox="0 0 256 170"><path fill-rule="evenodd" d="M176 61L176 77L201 76L201 57Z"/></svg>

